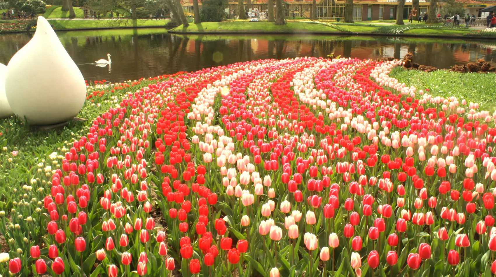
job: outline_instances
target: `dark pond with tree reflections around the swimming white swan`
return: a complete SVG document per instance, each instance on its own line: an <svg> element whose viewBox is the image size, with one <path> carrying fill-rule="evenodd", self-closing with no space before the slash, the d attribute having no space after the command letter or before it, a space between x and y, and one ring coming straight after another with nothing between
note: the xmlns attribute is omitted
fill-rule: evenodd
<svg viewBox="0 0 496 277"><path fill-rule="evenodd" d="M63 46L86 80L124 81L194 71L264 58L322 56L402 58L415 53L415 62L449 68L483 58L496 63L496 41L343 35L171 35L165 29L121 29L57 32ZM32 35L0 35L0 62L9 59ZM495 52L493 52L495 50ZM95 60L112 55L112 66Z"/></svg>

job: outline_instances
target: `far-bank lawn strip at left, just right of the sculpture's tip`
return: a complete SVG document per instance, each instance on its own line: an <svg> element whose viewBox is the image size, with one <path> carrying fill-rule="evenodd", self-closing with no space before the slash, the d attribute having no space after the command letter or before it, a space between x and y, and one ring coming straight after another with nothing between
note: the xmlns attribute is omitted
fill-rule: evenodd
<svg viewBox="0 0 496 277"><path fill-rule="evenodd" d="M161 20L150 20L150 19L138 19L136 20L137 27L154 27L154 26L165 26L169 22L169 19ZM130 27L134 26L131 19L115 19L115 20L57 20L57 23L61 24L67 29L80 29L80 28L119 28L119 27Z"/></svg>

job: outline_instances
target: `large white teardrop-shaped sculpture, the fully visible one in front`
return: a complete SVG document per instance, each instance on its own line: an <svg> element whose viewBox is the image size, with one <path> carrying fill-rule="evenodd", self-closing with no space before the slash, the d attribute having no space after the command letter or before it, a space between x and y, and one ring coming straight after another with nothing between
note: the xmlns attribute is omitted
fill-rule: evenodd
<svg viewBox="0 0 496 277"><path fill-rule="evenodd" d="M83 75L42 16L33 38L7 64L5 95L12 111L33 125L66 121L84 105Z"/></svg>

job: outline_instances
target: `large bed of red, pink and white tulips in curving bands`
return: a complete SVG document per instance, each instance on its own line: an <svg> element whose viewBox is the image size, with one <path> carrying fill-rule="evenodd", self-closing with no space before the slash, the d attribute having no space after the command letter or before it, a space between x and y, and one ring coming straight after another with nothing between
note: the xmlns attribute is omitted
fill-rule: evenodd
<svg viewBox="0 0 496 277"><path fill-rule="evenodd" d="M496 114L389 77L401 64L91 83L99 115L39 134L57 151L0 134L0 274L492 276Z"/></svg>

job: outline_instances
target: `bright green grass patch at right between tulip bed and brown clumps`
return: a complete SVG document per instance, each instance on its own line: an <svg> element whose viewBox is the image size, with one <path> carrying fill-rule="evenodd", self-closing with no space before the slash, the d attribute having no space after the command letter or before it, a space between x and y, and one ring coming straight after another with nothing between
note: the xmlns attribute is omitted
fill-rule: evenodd
<svg viewBox="0 0 496 277"><path fill-rule="evenodd" d="M394 68L390 77L407 86L430 90L434 96L456 96L458 99L478 102L481 110L495 111L496 99L493 94L493 84L496 82L495 73L458 73L447 70L424 72Z"/></svg>

